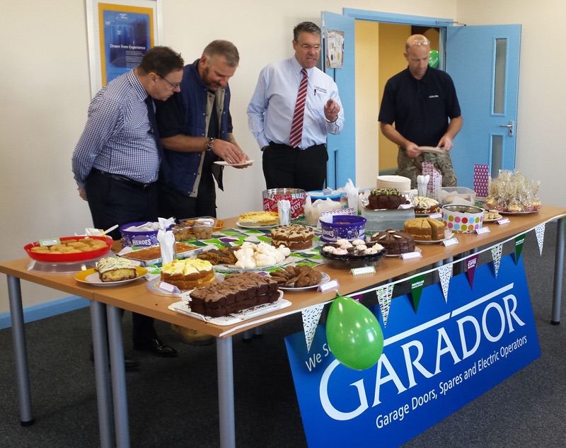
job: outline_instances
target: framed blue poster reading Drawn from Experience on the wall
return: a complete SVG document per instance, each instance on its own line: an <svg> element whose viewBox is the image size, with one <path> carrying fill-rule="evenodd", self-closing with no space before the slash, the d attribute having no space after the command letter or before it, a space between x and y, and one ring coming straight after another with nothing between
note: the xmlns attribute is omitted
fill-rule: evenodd
<svg viewBox="0 0 566 448"><path fill-rule="evenodd" d="M134 69L161 37L161 0L86 0L91 96Z"/></svg>

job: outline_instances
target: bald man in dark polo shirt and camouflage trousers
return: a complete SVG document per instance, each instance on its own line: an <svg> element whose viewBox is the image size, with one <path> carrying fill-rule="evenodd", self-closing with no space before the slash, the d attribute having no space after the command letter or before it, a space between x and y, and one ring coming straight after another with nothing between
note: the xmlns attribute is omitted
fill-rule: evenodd
<svg viewBox="0 0 566 448"><path fill-rule="evenodd" d="M443 186L456 186L449 151L463 119L454 82L445 71L429 67L429 52L430 42L423 35L408 38L403 53L408 67L387 81L379 110L381 132L399 148L397 174L410 178L411 188L417 187L423 161L434 163ZM443 152L422 152L419 147Z"/></svg>

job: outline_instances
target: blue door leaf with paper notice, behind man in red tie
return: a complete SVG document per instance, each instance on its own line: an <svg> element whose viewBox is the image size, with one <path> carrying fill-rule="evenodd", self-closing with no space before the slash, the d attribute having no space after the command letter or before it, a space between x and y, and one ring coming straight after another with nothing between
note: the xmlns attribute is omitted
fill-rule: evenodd
<svg viewBox="0 0 566 448"><path fill-rule="evenodd" d="M356 117L355 117L355 64L354 64L354 19L340 14L323 11L320 16L323 32L323 71L330 75L338 86L340 101L344 110L344 129L340 134L328 134L328 166L326 185L340 188L348 179L356 183ZM343 67L330 69L325 61L328 55L325 42L329 31L344 33Z"/></svg>

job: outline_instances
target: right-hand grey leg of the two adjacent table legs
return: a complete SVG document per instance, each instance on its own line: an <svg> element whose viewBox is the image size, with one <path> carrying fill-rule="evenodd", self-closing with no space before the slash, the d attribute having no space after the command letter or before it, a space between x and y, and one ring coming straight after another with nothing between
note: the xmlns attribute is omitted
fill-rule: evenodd
<svg viewBox="0 0 566 448"><path fill-rule="evenodd" d="M110 371L112 372L112 398L117 448L129 448L128 404L126 370L122 342L122 313L119 308L106 305L108 337L110 341Z"/></svg>

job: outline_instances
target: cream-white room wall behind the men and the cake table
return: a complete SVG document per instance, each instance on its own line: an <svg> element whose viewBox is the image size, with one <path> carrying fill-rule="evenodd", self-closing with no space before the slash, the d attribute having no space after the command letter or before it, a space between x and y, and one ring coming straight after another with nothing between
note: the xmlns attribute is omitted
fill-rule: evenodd
<svg viewBox="0 0 566 448"><path fill-rule="evenodd" d="M211 40L233 41L241 64L231 80L234 132L256 160L253 168L226 170L226 192L219 193L219 217L261 205L265 187L261 158L248 132L246 107L260 69L291 57L291 30L300 21L320 22L320 11L342 7L455 18L473 24L522 23L517 166L541 179L543 202L563 205L560 195L564 98L559 34L566 6L541 0L219 0L215 4L163 1L163 45L187 62ZM86 120L91 98L83 0L24 4L0 0L0 260L23 258L23 246L39 238L64 236L91 226L86 202L76 194L71 153ZM375 113L371 110L369 113ZM360 116L360 115L358 115ZM347 115L346 115L347 117ZM377 125L377 124L376 124ZM0 312L8 310L6 282L0 278ZM22 282L25 305L62 297Z"/></svg>

